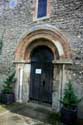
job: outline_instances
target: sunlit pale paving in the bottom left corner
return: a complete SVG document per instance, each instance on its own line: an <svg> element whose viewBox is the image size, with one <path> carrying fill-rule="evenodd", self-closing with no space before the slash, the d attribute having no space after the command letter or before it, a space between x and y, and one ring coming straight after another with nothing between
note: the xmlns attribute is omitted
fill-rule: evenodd
<svg viewBox="0 0 83 125"><path fill-rule="evenodd" d="M0 116L0 125L45 125L45 123L30 117L8 112Z"/></svg>

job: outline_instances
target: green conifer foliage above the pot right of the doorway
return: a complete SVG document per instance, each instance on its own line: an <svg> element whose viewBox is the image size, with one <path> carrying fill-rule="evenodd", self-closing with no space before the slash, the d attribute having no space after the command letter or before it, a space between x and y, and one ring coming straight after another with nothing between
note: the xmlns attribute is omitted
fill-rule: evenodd
<svg viewBox="0 0 83 125"><path fill-rule="evenodd" d="M69 81L65 90L64 96L60 102L67 108L75 108L77 107L78 103L82 100L82 98L78 98L74 92L74 88L72 82Z"/></svg>

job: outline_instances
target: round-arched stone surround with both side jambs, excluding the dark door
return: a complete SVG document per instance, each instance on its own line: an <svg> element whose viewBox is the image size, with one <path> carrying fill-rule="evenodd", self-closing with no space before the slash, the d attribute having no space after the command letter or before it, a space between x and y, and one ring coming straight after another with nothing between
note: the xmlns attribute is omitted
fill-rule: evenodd
<svg viewBox="0 0 83 125"><path fill-rule="evenodd" d="M17 46L15 54L16 100L19 102L29 101L31 52L38 46L47 46L54 55L52 108L58 111L60 108L58 100L63 94L63 88L68 79L67 76L69 76L66 66L68 67L71 63L72 53L68 39L51 25L43 24L32 27Z"/></svg>

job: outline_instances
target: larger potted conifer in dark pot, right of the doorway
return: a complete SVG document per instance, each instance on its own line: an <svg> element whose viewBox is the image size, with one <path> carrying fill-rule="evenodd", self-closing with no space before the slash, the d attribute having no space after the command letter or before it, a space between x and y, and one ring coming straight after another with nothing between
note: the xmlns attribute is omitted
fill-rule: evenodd
<svg viewBox="0 0 83 125"><path fill-rule="evenodd" d="M61 122L66 125L76 124L78 104L81 100L82 98L79 99L74 92L72 81L69 81L64 89L63 98L60 100L62 104L60 110Z"/></svg>

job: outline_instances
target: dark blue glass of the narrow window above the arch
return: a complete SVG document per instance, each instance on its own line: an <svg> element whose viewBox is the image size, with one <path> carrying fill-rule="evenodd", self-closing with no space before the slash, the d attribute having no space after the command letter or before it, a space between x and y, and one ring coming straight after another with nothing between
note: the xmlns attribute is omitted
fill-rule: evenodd
<svg viewBox="0 0 83 125"><path fill-rule="evenodd" d="M47 0L38 0L37 18L47 15Z"/></svg>

